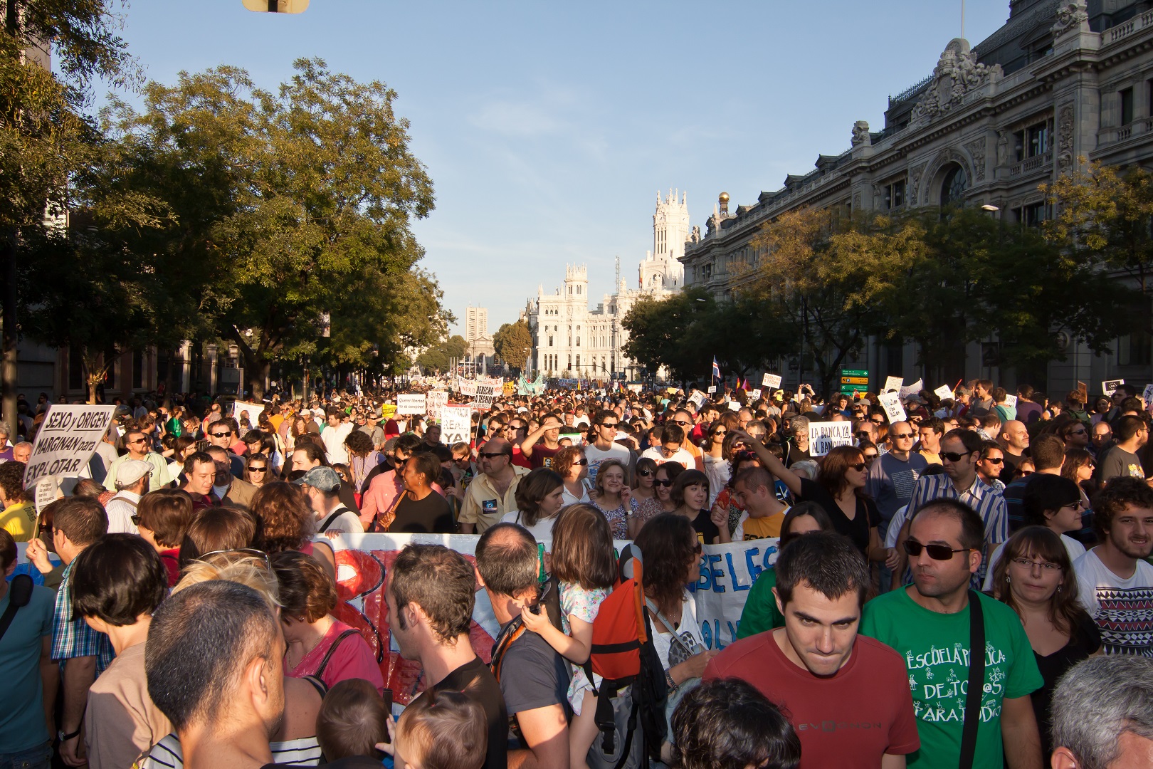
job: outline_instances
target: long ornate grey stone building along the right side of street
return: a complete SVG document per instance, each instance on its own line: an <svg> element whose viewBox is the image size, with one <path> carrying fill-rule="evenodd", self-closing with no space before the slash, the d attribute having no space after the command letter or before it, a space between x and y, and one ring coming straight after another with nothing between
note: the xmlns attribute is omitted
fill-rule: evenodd
<svg viewBox="0 0 1153 769"><path fill-rule="evenodd" d="M1073 169L1078 157L1122 166L1153 161L1148 6L1011 0L1001 29L973 48L954 39L928 77L890 97L881 130L857 121L850 149L819 156L813 171L786 176L755 203L730 211L722 194L703 238L686 248L685 284L731 296L758 262L752 241L762 225L792 209L963 203L1035 226L1052 214L1038 186ZM992 338L969 345L955 376L1013 385L1017 372L998 369L996 349ZM1153 339L1145 332L1118 339L1111 355L1094 356L1075 342L1065 352L1067 361L1048 367L1047 382L1034 376L1031 384L1060 393L1078 380L1091 383L1090 392L1102 379L1150 382ZM912 346L871 340L846 365L883 382L913 374L915 359Z"/></svg>

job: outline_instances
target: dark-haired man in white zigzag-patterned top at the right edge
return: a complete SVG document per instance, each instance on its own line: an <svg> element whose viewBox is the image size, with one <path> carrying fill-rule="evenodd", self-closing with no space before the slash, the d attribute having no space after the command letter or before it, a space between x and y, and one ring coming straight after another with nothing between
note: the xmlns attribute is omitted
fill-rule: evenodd
<svg viewBox="0 0 1153 769"><path fill-rule="evenodd" d="M1106 654L1153 657L1153 489L1116 477L1093 498L1101 544L1073 561L1082 605Z"/></svg>

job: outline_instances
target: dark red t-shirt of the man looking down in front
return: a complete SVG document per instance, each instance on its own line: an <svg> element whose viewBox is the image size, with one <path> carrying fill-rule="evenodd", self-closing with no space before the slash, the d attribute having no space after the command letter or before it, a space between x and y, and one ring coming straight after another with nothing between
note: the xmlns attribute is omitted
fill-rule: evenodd
<svg viewBox="0 0 1153 769"><path fill-rule="evenodd" d="M921 745L904 658L865 635L829 678L790 661L773 631L726 647L709 661L703 678L740 678L779 707L800 737L801 769L876 769L883 754L903 755Z"/></svg>

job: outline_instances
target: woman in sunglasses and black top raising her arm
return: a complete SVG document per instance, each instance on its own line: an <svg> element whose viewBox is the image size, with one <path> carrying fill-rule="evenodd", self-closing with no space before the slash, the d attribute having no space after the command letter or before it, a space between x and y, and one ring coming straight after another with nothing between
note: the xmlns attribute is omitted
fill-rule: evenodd
<svg viewBox="0 0 1153 769"><path fill-rule="evenodd" d="M834 529L852 540L867 559L886 559L887 551L876 528L881 522L881 513L876 503L865 496L868 466L860 448L834 446L824 455L816 480L809 481L785 467L760 442L748 439L747 436L741 439L756 452L769 473L784 481L798 502L815 502L821 505L832 520Z"/></svg>

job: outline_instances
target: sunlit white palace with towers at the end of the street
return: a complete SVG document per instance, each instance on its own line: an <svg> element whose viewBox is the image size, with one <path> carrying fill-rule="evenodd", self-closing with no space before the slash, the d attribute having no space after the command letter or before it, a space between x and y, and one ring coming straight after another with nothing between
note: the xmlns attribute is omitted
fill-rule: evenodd
<svg viewBox="0 0 1153 769"><path fill-rule="evenodd" d="M636 288L621 279L612 294L589 307L588 269L565 265L565 282L552 294L537 288L521 317L533 334L533 362L548 377L608 380L634 379L639 365L624 353L628 333L621 322L642 297L664 299L680 291L680 258L689 236L688 195L657 193L653 214L653 249L638 267ZM654 372L655 374L655 372Z"/></svg>

